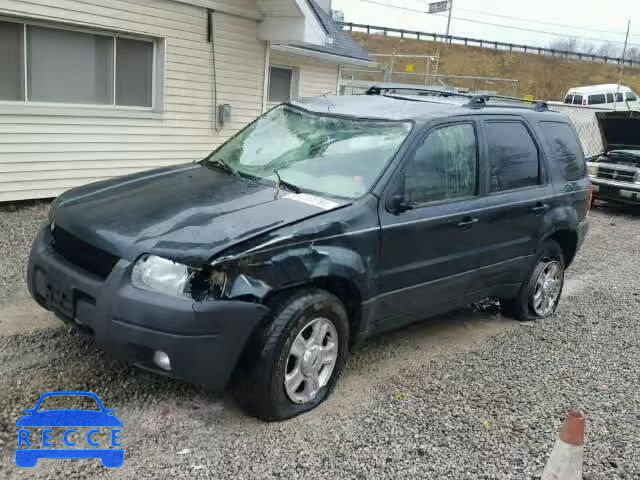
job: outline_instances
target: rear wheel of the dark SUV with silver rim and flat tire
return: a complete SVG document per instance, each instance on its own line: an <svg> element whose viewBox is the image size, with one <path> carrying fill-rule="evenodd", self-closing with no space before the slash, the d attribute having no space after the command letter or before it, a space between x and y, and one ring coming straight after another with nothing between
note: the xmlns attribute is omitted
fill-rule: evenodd
<svg viewBox="0 0 640 480"><path fill-rule="evenodd" d="M536 264L518 294L500 301L502 310L517 320L537 320L553 315L564 286L564 255L560 245L547 240Z"/></svg>

